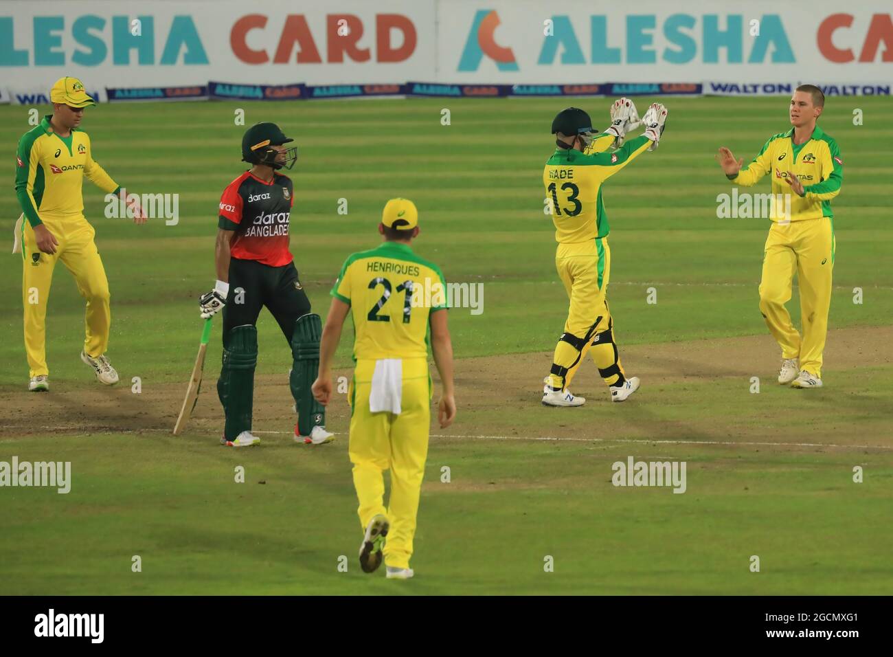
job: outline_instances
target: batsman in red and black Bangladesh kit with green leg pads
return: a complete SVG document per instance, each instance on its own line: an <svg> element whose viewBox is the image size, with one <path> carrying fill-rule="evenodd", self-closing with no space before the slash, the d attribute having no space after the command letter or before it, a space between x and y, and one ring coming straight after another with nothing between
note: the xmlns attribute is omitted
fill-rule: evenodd
<svg viewBox="0 0 893 657"><path fill-rule="evenodd" d="M242 160L251 169L223 190L217 220L214 289L198 299L201 316L223 310L223 365L217 393L226 416L221 444L248 447L257 365L257 317L266 307L280 325L294 363L288 384L295 398L295 441L315 445L334 438L325 430L325 409L310 385L319 365L322 323L310 312L310 300L288 250L294 187L288 176L297 148L275 123L257 123L242 138Z"/></svg>

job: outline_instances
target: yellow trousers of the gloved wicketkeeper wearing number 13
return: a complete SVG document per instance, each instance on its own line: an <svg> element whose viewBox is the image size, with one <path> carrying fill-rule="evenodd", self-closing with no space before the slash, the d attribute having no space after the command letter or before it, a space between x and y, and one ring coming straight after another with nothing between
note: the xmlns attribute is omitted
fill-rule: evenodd
<svg viewBox="0 0 893 657"><path fill-rule="evenodd" d="M611 274L607 238L559 243L555 269L571 300L564 333L555 346L550 383L556 390L571 385L590 348L598 374L608 385L625 380L620 353L613 339L613 320L605 292Z"/></svg>

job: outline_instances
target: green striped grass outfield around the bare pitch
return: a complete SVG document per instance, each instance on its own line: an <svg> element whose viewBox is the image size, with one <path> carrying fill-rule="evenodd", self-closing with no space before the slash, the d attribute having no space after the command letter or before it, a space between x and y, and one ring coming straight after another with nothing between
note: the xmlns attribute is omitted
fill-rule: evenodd
<svg viewBox="0 0 893 657"><path fill-rule="evenodd" d="M637 99L639 109L650 100ZM602 125L609 102L572 104L588 108ZM786 129L788 101L664 102L670 121L661 147L608 181L603 192L612 225L609 299L621 348L764 335L756 285L768 222L716 217L717 194L731 188L714 153L728 146L749 161L769 136ZM407 99L89 108L83 127L94 157L116 181L138 193L179 194L176 226L162 220L134 226L104 218L103 194L85 180L85 214L96 226L112 289L109 355L122 380L140 376L149 388L185 383L188 376L201 329L196 299L214 280L217 204L223 188L244 170L239 145L245 127L234 124L237 108L245 110L246 124L279 122L296 139L291 244L317 312L325 315L345 257L379 239L375 226L384 202L405 196L420 209L417 252L437 262L448 281L484 283L483 314L450 313L457 358L504 356L509 362L512 355L553 349L567 302L555 274L541 176L554 149L549 124L568 104L560 98ZM451 125L441 125L442 108L450 109ZM864 111L864 125L853 125L855 108ZM0 142L10 154L29 130L27 110L0 106ZM843 192L833 202L837 255L830 324L889 325L893 164L885 144L893 139L893 101L830 98L821 125L837 139L846 163ZM10 163L0 234L11 245L20 210ZM754 191L768 192L769 182ZM339 198L347 200L347 215L338 214ZM68 495L0 488L0 593L893 590L893 441L889 419L883 419L893 410L889 343L864 345L877 354L875 366L826 375L815 403L789 404L780 397L788 391L748 396L747 403L766 404L760 441L782 443L776 447L744 444L730 419L743 412L740 396L697 380L689 398L666 393L675 395L672 409L649 406L644 398L622 408L633 421L697 417L697 435L683 427L673 434L679 440L741 444L664 444L647 437L634 445L433 439L413 557L418 577L394 583L363 577L355 564L359 535L344 435L331 449L300 450L280 436L244 454L215 447L211 434L174 439L160 432L4 432L13 406L28 394L21 261L7 258L0 286L0 460L70 460L74 482ZM58 269L47 355L54 391L72 391L95 383L77 358L83 303L71 276L62 265ZM657 290L655 306L646 303L649 287ZM853 303L855 287L864 291L862 304ZM797 302L790 307L798 320ZM284 375L290 358L278 327L263 315L258 328L258 375ZM219 370L219 340L215 332L205 369L209 382ZM749 358L741 353L739 362ZM338 365L348 363L343 345ZM529 418L498 408L488 414L480 406L466 417L493 431L505 421L521 423L531 437L551 435L555 415L544 415L536 403L539 376L530 372ZM486 384L498 382L494 372ZM846 399L836 392L846 392ZM473 400L474 385L460 385L457 395L460 402ZM36 414L34 426L67 425L53 393L43 399L46 412ZM202 399L216 404L211 383ZM840 422L839 441L827 429L838 403L864 422ZM581 410L588 415L570 420L572 435L578 428L580 436L588 435L604 406ZM813 441L816 417L826 433ZM333 428L346 431L341 424ZM776 433L777 425L789 430ZM449 433L480 431L459 417ZM844 447L784 446L788 442ZM888 449L846 447L854 444ZM630 454L687 460L688 492L614 488L611 463ZM246 467L245 484L233 483L236 465ZM452 468L450 484L439 483L444 465ZM865 469L864 484L851 481L855 465ZM135 554L143 559L139 574L130 572ZM342 554L349 560L347 573L337 569ZM759 574L747 568L753 554L762 560ZM543 570L546 555L555 558L553 573Z"/></svg>

